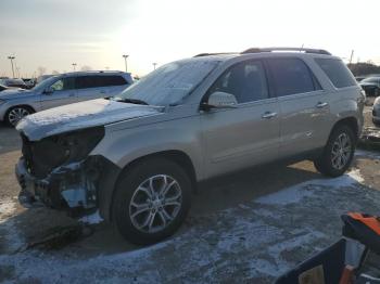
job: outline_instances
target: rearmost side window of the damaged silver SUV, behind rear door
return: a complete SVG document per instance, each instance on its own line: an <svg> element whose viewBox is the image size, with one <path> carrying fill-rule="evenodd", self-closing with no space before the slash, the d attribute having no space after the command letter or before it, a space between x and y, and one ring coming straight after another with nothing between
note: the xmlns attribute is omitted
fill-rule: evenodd
<svg viewBox="0 0 380 284"><path fill-rule="evenodd" d="M356 85L355 77L341 60L315 59L315 62L330 78L335 88L344 88Z"/></svg>

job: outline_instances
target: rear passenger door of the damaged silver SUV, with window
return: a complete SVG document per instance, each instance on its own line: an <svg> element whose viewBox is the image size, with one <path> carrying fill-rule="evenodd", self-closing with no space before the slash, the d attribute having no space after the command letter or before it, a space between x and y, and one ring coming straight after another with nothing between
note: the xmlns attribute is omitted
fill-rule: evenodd
<svg viewBox="0 0 380 284"><path fill-rule="evenodd" d="M267 59L280 105L280 157L324 146L331 129L328 93L299 57Z"/></svg>

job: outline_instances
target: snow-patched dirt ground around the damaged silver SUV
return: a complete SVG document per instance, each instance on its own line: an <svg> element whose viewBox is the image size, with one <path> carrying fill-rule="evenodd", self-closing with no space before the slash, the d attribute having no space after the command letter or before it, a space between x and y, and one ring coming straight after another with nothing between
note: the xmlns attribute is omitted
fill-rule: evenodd
<svg viewBox="0 0 380 284"><path fill-rule="evenodd" d="M16 131L0 126L0 282L268 283L333 243L340 215L379 212L380 152L359 150L350 172L338 179L326 179L303 162L204 184L181 230L150 247L136 247L99 223L90 236L55 244L59 249L25 249L77 221L20 207L13 173L20 146Z"/></svg>

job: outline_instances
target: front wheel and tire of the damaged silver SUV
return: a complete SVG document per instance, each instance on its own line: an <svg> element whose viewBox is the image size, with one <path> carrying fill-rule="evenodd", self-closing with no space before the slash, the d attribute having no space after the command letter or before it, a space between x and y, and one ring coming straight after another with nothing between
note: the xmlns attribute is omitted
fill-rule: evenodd
<svg viewBox="0 0 380 284"><path fill-rule="evenodd" d="M164 177L166 184L172 185L166 188L166 195L159 196L159 192L165 192ZM180 197L176 197L179 194ZM190 204L191 182L186 171L168 159L150 158L137 164L118 181L112 217L126 240L149 245L174 234L183 222Z"/></svg>

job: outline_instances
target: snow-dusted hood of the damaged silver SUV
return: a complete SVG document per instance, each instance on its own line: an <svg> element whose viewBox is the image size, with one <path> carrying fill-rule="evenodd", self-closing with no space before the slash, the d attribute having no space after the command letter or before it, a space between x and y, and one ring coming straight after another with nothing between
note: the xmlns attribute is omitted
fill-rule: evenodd
<svg viewBox="0 0 380 284"><path fill-rule="evenodd" d="M30 141L37 141L45 137L77 129L154 115L162 109L161 106L98 99L28 115L17 124L16 129L27 135Z"/></svg>

